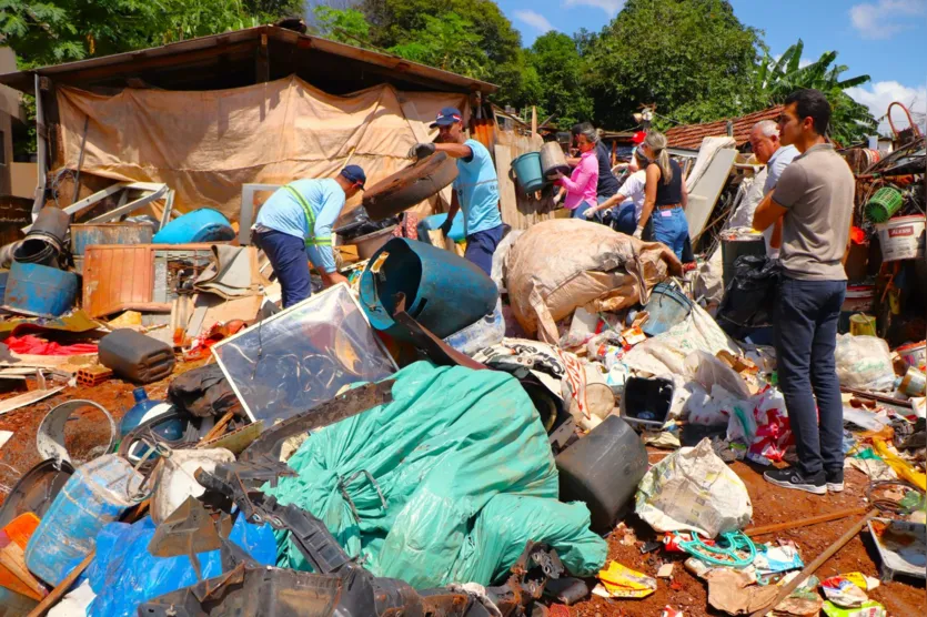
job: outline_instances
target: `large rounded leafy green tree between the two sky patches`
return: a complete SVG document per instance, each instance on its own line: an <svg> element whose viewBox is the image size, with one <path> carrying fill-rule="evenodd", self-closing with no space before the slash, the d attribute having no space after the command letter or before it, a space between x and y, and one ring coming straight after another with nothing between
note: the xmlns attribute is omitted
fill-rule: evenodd
<svg viewBox="0 0 927 617"><path fill-rule="evenodd" d="M759 32L723 0L627 0L588 45L595 117L624 128L641 104L681 122L737 115L755 104Z"/></svg>

